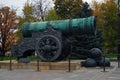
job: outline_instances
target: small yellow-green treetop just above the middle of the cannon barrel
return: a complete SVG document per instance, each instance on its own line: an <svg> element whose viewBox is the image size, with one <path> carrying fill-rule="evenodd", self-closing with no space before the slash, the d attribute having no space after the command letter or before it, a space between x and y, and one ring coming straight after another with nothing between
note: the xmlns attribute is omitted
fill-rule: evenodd
<svg viewBox="0 0 120 80"><path fill-rule="evenodd" d="M45 16L46 21L50 20L60 20L61 18L56 14L54 9L49 10L48 14Z"/></svg>

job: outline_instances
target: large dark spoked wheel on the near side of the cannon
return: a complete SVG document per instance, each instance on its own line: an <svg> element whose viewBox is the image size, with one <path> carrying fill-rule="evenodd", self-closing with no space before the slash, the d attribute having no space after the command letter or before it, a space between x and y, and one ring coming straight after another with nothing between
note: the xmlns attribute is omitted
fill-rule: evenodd
<svg viewBox="0 0 120 80"><path fill-rule="evenodd" d="M43 35L37 43L36 52L42 61L55 61L61 55L60 40L53 35Z"/></svg>

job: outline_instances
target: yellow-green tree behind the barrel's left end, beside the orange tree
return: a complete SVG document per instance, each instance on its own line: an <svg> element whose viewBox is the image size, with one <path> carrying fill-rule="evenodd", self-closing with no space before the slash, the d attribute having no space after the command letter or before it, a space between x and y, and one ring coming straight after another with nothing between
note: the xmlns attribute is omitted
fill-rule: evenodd
<svg viewBox="0 0 120 80"><path fill-rule="evenodd" d="M18 23L18 31L17 35L19 36L18 42L22 39L22 25L25 22L35 22L38 21L37 18L33 16L33 5L32 3L29 3L28 1L25 3L24 8L23 8L23 16L19 18L19 23Z"/></svg>

